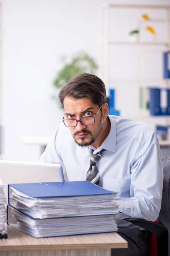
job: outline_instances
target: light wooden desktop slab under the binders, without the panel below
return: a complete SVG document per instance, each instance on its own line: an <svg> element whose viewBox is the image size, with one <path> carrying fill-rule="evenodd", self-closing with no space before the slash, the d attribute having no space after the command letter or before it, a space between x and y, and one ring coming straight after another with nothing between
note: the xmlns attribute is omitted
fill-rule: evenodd
<svg viewBox="0 0 170 256"><path fill-rule="evenodd" d="M118 233L103 233L54 238L34 238L8 227L8 239L0 240L0 251L67 250L127 248L127 241Z"/></svg>

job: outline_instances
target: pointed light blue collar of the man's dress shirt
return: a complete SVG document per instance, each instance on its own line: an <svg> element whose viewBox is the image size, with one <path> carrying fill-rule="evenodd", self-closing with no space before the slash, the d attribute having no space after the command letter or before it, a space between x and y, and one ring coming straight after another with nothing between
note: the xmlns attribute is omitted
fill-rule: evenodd
<svg viewBox="0 0 170 256"><path fill-rule="evenodd" d="M111 130L108 134L108 137L106 137L105 140L103 141L99 150L104 148L108 151L115 153L116 152L116 123L115 123L114 119L111 118L111 116L108 115L108 118L111 122ZM90 148L96 149L92 145L90 146Z"/></svg>

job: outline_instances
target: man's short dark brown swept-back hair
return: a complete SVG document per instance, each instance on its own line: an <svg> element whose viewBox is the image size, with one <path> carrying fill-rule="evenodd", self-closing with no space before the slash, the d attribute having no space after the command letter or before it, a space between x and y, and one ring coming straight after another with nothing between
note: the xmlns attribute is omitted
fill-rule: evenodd
<svg viewBox="0 0 170 256"><path fill-rule="evenodd" d="M100 107L106 103L105 84L95 75L82 73L69 80L60 90L59 100L62 106L66 96L74 99L88 97L94 104Z"/></svg>

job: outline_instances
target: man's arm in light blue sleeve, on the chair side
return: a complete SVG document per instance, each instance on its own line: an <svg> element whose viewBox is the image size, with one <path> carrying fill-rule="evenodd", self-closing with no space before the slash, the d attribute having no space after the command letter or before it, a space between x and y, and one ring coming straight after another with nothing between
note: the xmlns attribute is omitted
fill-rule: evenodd
<svg viewBox="0 0 170 256"><path fill-rule="evenodd" d="M131 198L117 198L120 212L133 218L156 221L161 209L163 167L156 134L140 146L136 162L131 167Z"/></svg>

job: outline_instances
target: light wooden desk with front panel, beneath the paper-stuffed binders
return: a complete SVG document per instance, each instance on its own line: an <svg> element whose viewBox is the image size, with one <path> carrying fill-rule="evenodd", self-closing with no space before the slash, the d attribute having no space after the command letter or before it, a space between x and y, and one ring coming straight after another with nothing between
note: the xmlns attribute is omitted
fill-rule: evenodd
<svg viewBox="0 0 170 256"><path fill-rule="evenodd" d="M12 227L0 240L0 256L110 256L111 248L127 248L127 241L117 233L36 239Z"/></svg>

